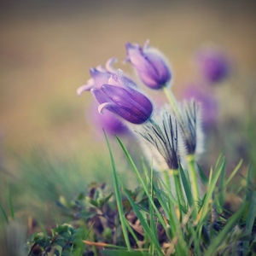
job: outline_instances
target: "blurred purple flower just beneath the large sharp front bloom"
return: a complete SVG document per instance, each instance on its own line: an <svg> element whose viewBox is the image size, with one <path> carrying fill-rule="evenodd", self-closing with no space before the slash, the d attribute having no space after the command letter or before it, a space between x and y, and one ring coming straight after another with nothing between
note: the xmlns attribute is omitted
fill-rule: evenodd
<svg viewBox="0 0 256 256"><path fill-rule="evenodd" d="M90 105L89 118L96 131L102 134L102 128L107 131L108 135L120 135L127 133L127 127L110 111L104 114L98 112L98 104L94 100Z"/></svg>

